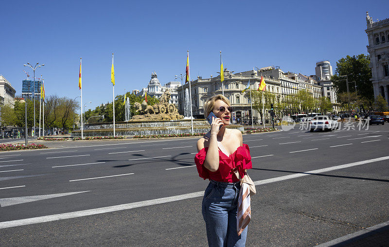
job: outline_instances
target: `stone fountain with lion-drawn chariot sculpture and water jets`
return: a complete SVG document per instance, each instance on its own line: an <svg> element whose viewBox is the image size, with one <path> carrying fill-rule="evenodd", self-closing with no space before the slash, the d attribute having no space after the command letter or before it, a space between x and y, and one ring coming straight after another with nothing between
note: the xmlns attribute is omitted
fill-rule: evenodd
<svg viewBox="0 0 389 247"><path fill-rule="evenodd" d="M116 135L152 135L152 134L183 134L192 133L192 121L188 89L185 91L184 115L178 114L174 104L169 103L170 92L165 91L158 104L148 105L145 100L134 104L135 113L132 119L115 122ZM241 125L230 125L229 128L243 131ZM205 119L193 119L193 132L205 133L210 125ZM84 125L84 136L113 135L113 123L90 123ZM71 132L71 136L81 136L81 130Z"/></svg>

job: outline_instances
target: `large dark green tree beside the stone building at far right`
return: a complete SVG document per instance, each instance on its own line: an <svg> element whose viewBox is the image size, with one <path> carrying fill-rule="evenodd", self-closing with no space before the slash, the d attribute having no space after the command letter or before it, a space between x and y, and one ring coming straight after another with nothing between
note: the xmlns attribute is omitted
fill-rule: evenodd
<svg viewBox="0 0 389 247"><path fill-rule="evenodd" d="M348 81L355 82L358 98L367 99L371 102L374 99L373 85L371 79L370 58L365 54L357 56L347 55L345 58L339 59L336 62L335 75L331 77L334 82L336 94L347 93L346 77L349 75ZM354 83L349 84L349 91L354 91Z"/></svg>

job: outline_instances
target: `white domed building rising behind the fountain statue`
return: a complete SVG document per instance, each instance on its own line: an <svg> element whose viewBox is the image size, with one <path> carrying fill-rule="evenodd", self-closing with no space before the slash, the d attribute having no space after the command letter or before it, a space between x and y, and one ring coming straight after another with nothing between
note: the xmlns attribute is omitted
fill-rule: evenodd
<svg viewBox="0 0 389 247"><path fill-rule="evenodd" d="M144 96L147 92L147 95L153 96L153 97L156 97L159 99L159 97L161 97L163 92L165 92L166 90L169 90L170 96L171 96L170 103L178 105L177 87L181 86L181 83L180 82L168 82L164 86L162 86L157 77L158 77L157 73L154 71L151 74L151 80L148 83L147 87L143 87L139 92L136 93L136 96ZM138 90L136 90L136 91L138 91Z"/></svg>

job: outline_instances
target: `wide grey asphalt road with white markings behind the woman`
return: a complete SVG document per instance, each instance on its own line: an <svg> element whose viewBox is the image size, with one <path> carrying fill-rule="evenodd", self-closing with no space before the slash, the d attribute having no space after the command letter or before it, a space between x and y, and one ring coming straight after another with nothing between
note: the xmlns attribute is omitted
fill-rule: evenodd
<svg viewBox="0 0 389 247"><path fill-rule="evenodd" d="M389 221L389 124L299 127L244 135L258 184L247 246L316 246ZM0 152L0 246L206 246L197 139Z"/></svg>

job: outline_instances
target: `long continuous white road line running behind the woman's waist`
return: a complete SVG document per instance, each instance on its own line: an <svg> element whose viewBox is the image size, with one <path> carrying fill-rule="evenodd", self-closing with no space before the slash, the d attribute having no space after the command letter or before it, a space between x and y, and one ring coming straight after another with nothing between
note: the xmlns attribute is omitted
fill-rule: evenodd
<svg viewBox="0 0 389 247"><path fill-rule="evenodd" d="M296 174L286 175L286 176L272 178L272 179L254 181L254 183L255 183L255 185L262 185L262 184L266 184L266 183L289 180L289 179L299 178L299 177L303 177L303 176L309 176L312 174L319 174L319 173L323 173L323 172L327 172L327 171L348 168L348 167L352 167L352 166L356 166L356 165L365 165L365 164L378 162L378 161L384 161L384 160L388 160L388 159L389 159L389 156L385 156L385 157L375 158L375 159L371 159L371 160L358 161L358 162L349 163L349 164L345 164L345 165L336 165L336 166L332 166L332 167L328 167L328 168L307 171L304 173L296 173ZM203 197L203 196L204 196L204 191L198 191L198 192L194 192L194 193L188 193L188 194L177 195L177 196L172 196L172 197L157 198L157 199L132 202L132 203L121 204L121 205L108 206L108 207L103 207L103 208L95 208L95 209L75 211L75 212L69 212L69 213L63 213L63 214L52 214L52 215L39 216L39 217L34 217L34 218L3 221L3 222L0 222L0 229L17 227L17 226L25 226L25 225L31 225L31 224L37 224L37 223L44 223L44 222L51 222L51 221L56 221L56 220L61 220L61 219L71 219L71 218L77 218L77 217L82 217L82 216L87 216L87 215L104 214L104 213L116 212L116 211L121 211L121 210L128 210L128 209L133 209L133 208L140 208L140 207L145 207L145 206L151 206L151 205L156 205L156 204L162 204L162 203L167 203L167 202L173 202L173 201L179 201L179 200L185 200L185 199L191 199L191 198L197 198L197 197Z"/></svg>

